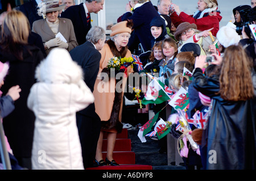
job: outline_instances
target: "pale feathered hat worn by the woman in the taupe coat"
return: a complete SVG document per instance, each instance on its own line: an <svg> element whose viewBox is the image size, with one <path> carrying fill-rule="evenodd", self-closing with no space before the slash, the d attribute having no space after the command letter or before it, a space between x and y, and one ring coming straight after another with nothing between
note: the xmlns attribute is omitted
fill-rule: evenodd
<svg viewBox="0 0 256 181"><path fill-rule="evenodd" d="M47 12L63 10L65 4L59 5L59 0L47 0L40 2L38 5L38 15L46 14Z"/></svg>

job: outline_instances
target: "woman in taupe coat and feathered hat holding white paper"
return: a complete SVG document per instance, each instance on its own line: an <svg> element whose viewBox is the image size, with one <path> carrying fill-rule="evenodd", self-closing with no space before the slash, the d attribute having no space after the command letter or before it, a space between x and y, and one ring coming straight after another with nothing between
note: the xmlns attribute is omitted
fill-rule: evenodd
<svg viewBox="0 0 256 181"><path fill-rule="evenodd" d="M43 40L46 53L53 48L64 48L68 51L77 47L76 35L70 19L59 18L59 11L65 5L59 1L43 1L38 5L38 15L46 19L39 19L33 23L32 32L38 33Z"/></svg>

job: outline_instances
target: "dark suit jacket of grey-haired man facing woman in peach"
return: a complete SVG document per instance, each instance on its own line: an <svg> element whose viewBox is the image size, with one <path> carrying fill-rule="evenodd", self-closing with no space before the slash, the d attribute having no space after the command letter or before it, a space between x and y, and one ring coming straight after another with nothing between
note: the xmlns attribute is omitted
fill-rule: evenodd
<svg viewBox="0 0 256 181"><path fill-rule="evenodd" d="M72 49L70 52L73 61L76 61L84 71L84 81L89 89L93 92L98 70L100 68L101 53L94 48L89 41ZM79 111L84 115L92 116L95 112L94 103L90 104L84 110Z"/></svg>

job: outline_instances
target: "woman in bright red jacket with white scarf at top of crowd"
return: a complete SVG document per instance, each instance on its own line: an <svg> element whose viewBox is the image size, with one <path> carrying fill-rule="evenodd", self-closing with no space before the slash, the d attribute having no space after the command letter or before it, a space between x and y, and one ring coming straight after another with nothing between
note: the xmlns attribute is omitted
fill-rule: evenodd
<svg viewBox="0 0 256 181"><path fill-rule="evenodd" d="M170 16L174 26L177 27L183 22L195 23L199 31L213 28L211 32L213 36L216 36L222 19L220 11L218 11L217 0L199 0L196 9L197 11L193 15L188 15L180 11L179 6L172 4Z"/></svg>

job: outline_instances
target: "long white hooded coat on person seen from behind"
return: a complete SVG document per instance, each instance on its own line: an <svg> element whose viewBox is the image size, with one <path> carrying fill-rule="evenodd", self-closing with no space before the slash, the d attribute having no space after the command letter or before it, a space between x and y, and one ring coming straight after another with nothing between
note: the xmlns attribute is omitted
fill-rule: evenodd
<svg viewBox="0 0 256 181"><path fill-rule="evenodd" d="M34 111L32 169L84 169L76 112L94 102L82 69L68 51L53 49L36 68L27 106Z"/></svg>

